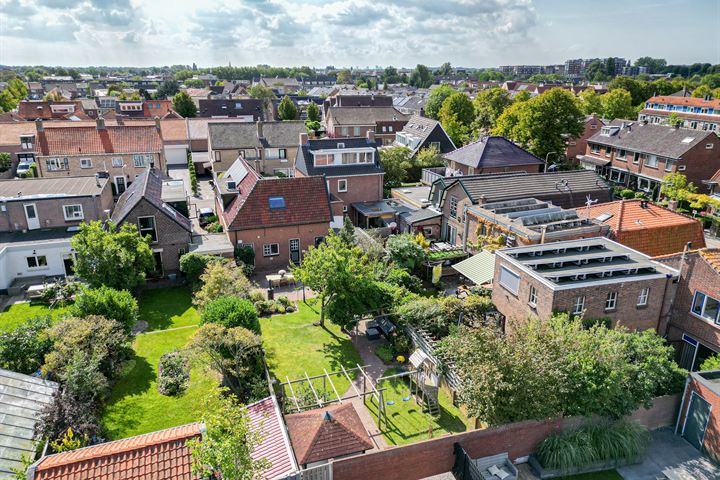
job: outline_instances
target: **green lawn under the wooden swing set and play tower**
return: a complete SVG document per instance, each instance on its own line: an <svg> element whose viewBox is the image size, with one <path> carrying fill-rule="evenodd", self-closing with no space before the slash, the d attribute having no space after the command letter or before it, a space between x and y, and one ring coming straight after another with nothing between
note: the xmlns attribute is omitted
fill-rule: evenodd
<svg viewBox="0 0 720 480"><path fill-rule="evenodd" d="M392 375L395 369L385 371L385 375ZM415 403L410 395L408 379L397 378L381 383L386 390L383 393L385 402L393 401L393 405L385 405L388 426L383 423L382 433L390 445L404 445L429 438L428 430L432 426L433 437L448 433L464 432L468 429L470 421L452 404L450 398L440 390L440 417L433 418L423 413L422 408ZM410 399L403 401L403 398ZM377 423L377 402L368 397L366 403L370 414Z"/></svg>

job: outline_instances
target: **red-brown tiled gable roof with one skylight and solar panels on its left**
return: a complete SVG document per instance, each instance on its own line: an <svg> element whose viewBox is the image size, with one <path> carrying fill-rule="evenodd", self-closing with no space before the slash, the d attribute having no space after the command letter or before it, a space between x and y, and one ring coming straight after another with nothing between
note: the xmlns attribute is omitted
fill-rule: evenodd
<svg viewBox="0 0 720 480"><path fill-rule="evenodd" d="M228 230L329 224L332 220L323 177L260 178L242 158L235 160L226 176L238 187L237 197L222 213ZM271 197L282 197L284 208L271 209Z"/></svg>

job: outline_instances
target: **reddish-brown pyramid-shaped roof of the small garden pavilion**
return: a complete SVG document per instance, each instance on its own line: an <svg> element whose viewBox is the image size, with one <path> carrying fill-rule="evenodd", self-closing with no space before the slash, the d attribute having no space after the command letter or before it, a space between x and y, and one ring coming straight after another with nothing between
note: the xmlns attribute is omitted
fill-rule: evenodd
<svg viewBox="0 0 720 480"><path fill-rule="evenodd" d="M301 465L373 448L352 403L286 415L285 423Z"/></svg>

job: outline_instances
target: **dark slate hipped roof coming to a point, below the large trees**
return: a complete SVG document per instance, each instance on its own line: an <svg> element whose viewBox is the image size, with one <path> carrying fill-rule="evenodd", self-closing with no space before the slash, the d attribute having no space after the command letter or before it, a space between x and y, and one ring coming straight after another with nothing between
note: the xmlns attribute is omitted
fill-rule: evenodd
<svg viewBox="0 0 720 480"><path fill-rule="evenodd" d="M502 168L517 165L543 165L532 153L515 145L505 137L490 136L469 143L443 158L473 168Z"/></svg>

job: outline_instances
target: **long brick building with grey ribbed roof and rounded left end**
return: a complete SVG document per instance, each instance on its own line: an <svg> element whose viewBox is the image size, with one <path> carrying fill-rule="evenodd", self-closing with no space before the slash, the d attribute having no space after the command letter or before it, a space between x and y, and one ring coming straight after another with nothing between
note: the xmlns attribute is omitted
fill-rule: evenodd
<svg viewBox="0 0 720 480"><path fill-rule="evenodd" d="M607 202L611 192L595 172L509 173L441 178L430 187L432 208L442 212L442 238L465 244L465 211L472 205L534 198L556 207L579 207L587 197Z"/></svg>

